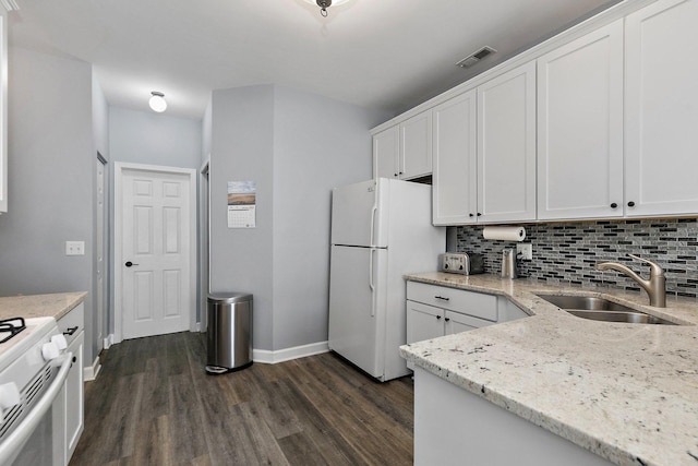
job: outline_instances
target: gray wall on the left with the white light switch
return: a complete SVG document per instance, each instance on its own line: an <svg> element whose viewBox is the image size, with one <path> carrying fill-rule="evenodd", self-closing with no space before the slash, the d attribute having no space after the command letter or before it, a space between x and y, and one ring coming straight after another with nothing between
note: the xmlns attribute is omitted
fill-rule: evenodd
<svg viewBox="0 0 698 466"><path fill-rule="evenodd" d="M93 338L92 67L9 50L9 212L0 215L0 295L89 291ZM67 256L65 241L85 241ZM94 345L86 345L92 362Z"/></svg>

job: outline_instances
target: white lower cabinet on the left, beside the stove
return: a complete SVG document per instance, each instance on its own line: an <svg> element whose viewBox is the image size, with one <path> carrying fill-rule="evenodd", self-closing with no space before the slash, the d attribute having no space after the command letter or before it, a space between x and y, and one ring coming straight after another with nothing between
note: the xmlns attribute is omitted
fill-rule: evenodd
<svg viewBox="0 0 698 466"><path fill-rule="evenodd" d="M83 354L85 346L85 310L79 304L58 321L68 340L73 363L65 380L65 463L70 462L84 430Z"/></svg>

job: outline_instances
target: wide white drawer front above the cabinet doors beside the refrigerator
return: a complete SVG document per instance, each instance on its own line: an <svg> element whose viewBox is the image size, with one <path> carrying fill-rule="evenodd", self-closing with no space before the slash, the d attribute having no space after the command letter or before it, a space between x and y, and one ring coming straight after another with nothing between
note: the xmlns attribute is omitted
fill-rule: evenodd
<svg viewBox="0 0 698 466"><path fill-rule="evenodd" d="M497 297L465 289L407 282L407 299L489 321L497 321Z"/></svg>

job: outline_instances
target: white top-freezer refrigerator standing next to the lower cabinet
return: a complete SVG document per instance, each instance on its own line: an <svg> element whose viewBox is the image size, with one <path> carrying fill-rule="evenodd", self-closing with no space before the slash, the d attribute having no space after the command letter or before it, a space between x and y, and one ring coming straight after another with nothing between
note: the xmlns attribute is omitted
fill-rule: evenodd
<svg viewBox="0 0 698 466"><path fill-rule="evenodd" d="M380 381L409 373L402 275L436 270L445 250L431 193L387 178L333 190L329 349Z"/></svg>

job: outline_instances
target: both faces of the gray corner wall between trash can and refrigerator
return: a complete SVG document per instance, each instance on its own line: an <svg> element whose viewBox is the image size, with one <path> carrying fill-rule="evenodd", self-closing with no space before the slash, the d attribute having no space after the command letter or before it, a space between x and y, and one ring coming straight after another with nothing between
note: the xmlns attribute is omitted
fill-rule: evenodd
<svg viewBox="0 0 698 466"><path fill-rule="evenodd" d="M389 118L279 86L213 94L212 289L254 294L254 347L327 339L330 189L371 178ZM257 227L228 229L227 182L257 182Z"/></svg>

